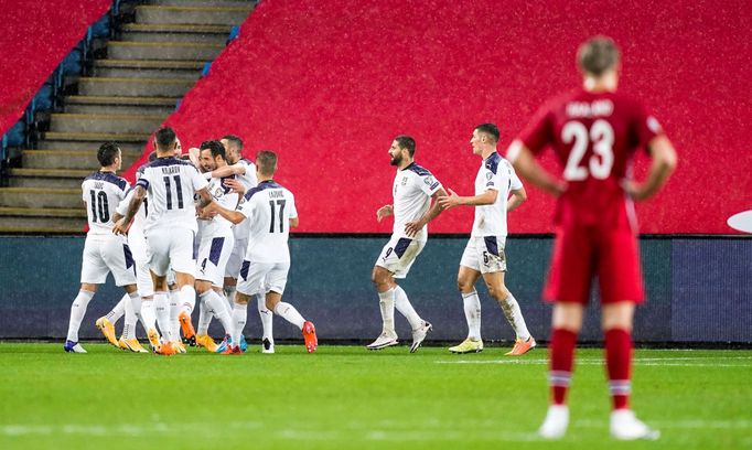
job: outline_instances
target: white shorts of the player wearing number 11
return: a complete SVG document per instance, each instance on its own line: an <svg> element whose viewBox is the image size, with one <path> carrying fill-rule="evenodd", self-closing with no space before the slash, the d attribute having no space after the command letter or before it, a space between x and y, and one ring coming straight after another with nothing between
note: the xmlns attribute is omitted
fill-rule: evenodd
<svg viewBox="0 0 752 450"><path fill-rule="evenodd" d="M172 268L176 272L195 275L196 255L193 253L195 233L187 228L157 228L147 234L149 268L159 277Z"/></svg>

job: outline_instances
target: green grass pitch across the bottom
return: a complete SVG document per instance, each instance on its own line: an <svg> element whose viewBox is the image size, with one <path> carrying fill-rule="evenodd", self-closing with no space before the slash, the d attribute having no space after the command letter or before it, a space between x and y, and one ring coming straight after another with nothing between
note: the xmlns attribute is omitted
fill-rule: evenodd
<svg viewBox="0 0 752 450"><path fill-rule="evenodd" d="M602 352L579 350L567 437L537 438L546 351L277 346L160 357L0 343L0 449L752 448L752 351L635 353L632 406L658 441L609 438Z"/></svg>

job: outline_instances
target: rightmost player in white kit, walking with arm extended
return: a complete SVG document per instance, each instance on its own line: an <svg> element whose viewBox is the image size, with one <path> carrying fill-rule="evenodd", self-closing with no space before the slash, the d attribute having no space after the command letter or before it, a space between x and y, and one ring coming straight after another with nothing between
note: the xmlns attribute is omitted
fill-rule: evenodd
<svg viewBox="0 0 752 450"><path fill-rule="evenodd" d="M483 159L475 175L475 195L459 196L450 189L449 195L439 200L444 208L458 205L475 207L473 231L462 253L456 276L468 320L468 339L450 347L452 353L483 351L481 300L475 291L475 282L481 277L516 333L515 345L506 355L522 355L536 346L535 339L527 331L519 303L504 286L506 214L519 206L527 194L512 164L496 152L498 136L498 127L494 124L481 124L473 130L470 144L473 153Z"/></svg>

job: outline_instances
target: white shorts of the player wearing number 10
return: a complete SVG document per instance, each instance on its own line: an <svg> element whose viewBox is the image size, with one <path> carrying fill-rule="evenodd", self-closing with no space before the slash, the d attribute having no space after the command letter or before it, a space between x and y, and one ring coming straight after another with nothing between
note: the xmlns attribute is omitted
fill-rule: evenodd
<svg viewBox="0 0 752 450"><path fill-rule="evenodd" d="M86 236L80 282L104 285L112 272L115 285L136 285L136 261L121 236Z"/></svg>

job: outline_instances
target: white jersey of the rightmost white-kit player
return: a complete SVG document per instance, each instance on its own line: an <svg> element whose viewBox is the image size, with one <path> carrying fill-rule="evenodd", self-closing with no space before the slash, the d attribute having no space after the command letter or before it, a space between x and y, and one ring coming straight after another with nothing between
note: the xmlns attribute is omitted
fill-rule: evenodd
<svg viewBox="0 0 752 450"><path fill-rule="evenodd" d="M523 189L523 182L517 178L509 161L496 152L483 160L475 176L475 195L491 189L498 192L496 202L492 205L475 206L475 219L470 234L473 237L506 236L506 201L509 191Z"/></svg>

